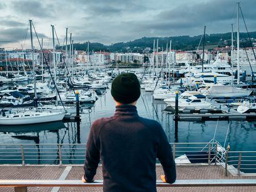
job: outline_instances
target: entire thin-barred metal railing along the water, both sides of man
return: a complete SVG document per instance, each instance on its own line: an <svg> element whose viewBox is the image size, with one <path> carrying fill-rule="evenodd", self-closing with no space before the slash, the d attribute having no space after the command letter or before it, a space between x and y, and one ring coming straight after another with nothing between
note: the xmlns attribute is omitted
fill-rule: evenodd
<svg viewBox="0 0 256 192"><path fill-rule="evenodd" d="M218 164L228 172L256 173L256 151L226 151L217 141L170 143L176 164ZM86 144L0 144L0 164L83 164Z"/></svg>

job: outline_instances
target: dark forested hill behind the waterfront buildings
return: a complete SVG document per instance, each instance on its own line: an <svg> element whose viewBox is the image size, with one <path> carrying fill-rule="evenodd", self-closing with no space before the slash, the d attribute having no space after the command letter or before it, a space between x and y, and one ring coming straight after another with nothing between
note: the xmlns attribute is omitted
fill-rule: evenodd
<svg viewBox="0 0 256 192"><path fill-rule="evenodd" d="M256 42L256 31L250 32L250 37L253 42ZM86 37L85 37L86 38ZM143 37L134 41L120 42L111 45L104 45L101 43L91 43L90 51L113 51L113 52L142 52L145 48L153 48L153 41L158 39L160 49L166 48L166 43L172 40L172 49L181 49L184 51L195 50L198 47L202 35L198 36L169 36L169 37ZM236 33L234 33L234 40L236 40ZM240 33L241 47L249 47L247 33ZM200 44L202 48L203 40ZM218 33L205 36L206 49L213 49L217 47L228 46L231 44L231 33ZM87 42L75 43L74 49L87 50Z"/></svg>

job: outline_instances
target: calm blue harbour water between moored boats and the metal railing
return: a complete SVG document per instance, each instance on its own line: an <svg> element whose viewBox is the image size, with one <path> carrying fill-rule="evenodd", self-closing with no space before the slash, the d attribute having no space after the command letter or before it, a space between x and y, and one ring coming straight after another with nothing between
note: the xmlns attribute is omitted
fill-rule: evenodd
<svg viewBox="0 0 256 192"><path fill-rule="evenodd" d="M218 123L215 139L223 145L230 124L226 145L230 143L231 151L256 151L256 120L255 122L235 120L178 122L178 128L175 131L173 116L164 111L165 107L164 102L153 101L152 93L146 93L142 90L142 95L137 102L139 115L160 122L169 142L208 142L213 138ZM106 90L106 94L100 96L92 109L83 111L80 126L77 125L77 122L54 122L17 127L0 126L0 144L70 144L70 146L66 146L70 149L66 150L67 156L64 161L75 163L68 161L69 155L74 152L71 148L74 144L87 142L93 120L100 117L110 117L114 114L114 110L115 106L110 90ZM84 155L85 146L80 146L80 148L81 155ZM17 149L17 151L19 150ZM36 149L34 151L36 152ZM27 157L27 159L29 158L32 157ZM57 160L55 159L54 163L58 163ZM36 162L32 162L40 163L42 161L37 159ZM7 161L1 162L6 163ZM50 162L53 163L53 161Z"/></svg>

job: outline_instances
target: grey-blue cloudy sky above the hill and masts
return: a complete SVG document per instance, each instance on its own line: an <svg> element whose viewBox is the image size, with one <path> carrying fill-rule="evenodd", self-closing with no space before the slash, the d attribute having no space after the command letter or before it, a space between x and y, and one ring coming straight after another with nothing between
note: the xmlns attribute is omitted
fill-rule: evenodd
<svg viewBox="0 0 256 192"><path fill-rule="evenodd" d="M256 31L256 0L240 2L249 31ZM236 28L236 0L0 0L0 47L28 48L29 19L45 47L51 46L51 25L61 42L68 27L75 42L111 44L143 36L200 35L204 25L207 33L228 32L231 23Z"/></svg>

